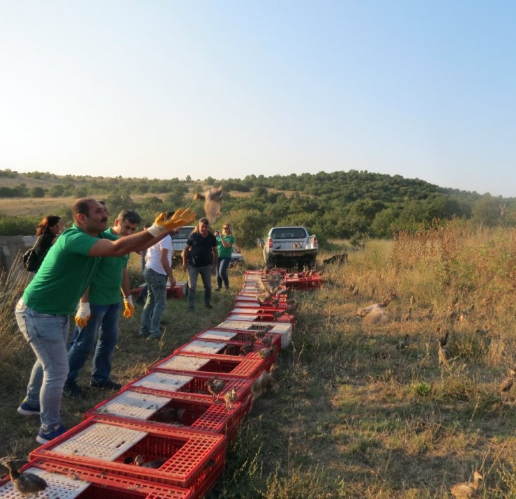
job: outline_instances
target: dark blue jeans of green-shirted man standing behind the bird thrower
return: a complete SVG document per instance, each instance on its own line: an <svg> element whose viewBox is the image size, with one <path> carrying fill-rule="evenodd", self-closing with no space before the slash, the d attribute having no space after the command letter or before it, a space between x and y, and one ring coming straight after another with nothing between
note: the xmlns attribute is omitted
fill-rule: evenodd
<svg viewBox="0 0 516 499"><path fill-rule="evenodd" d="M116 341L119 338L120 303L112 305L90 304L88 324L79 330L75 327L73 339L68 350L70 372L66 382L75 381L82 366L93 351L93 345L99 331L97 348L93 355L91 380L103 385L109 380L111 363Z"/></svg>

